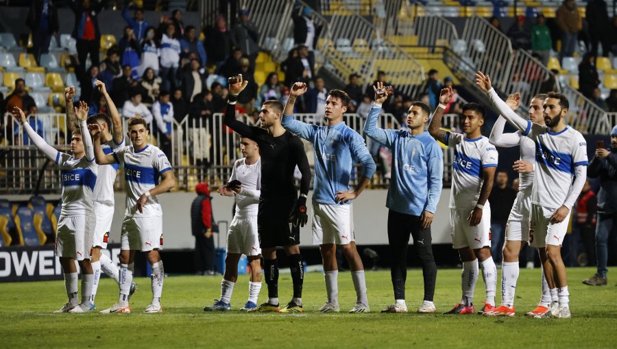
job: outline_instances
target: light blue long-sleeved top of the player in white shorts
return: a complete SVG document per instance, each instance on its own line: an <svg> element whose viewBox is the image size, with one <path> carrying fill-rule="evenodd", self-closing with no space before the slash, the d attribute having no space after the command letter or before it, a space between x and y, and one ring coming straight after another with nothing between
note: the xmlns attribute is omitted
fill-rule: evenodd
<svg viewBox="0 0 617 349"><path fill-rule="evenodd" d="M355 162L361 162L363 177L372 178L376 166L361 135L339 122L332 127L309 125L285 115L281 124L295 135L309 140L315 148L313 200L338 205L336 193L350 190L349 179ZM348 201L346 204L350 204Z"/></svg>

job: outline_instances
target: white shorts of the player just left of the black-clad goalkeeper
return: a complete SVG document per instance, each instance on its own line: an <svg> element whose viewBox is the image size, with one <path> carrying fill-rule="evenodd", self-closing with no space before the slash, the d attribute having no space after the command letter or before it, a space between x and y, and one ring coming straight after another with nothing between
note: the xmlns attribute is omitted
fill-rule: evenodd
<svg viewBox="0 0 617 349"><path fill-rule="evenodd" d="M247 257L261 255L257 216L234 217L227 231L227 253L239 253Z"/></svg>

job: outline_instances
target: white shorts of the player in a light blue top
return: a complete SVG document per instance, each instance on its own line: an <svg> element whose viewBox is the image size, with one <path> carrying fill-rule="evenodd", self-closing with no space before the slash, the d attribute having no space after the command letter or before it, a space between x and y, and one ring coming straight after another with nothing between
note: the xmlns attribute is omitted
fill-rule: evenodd
<svg viewBox="0 0 617 349"><path fill-rule="evenodd" d="M313 201L313 245L346 245L354 237L352 205L326 205Z"/></svg>

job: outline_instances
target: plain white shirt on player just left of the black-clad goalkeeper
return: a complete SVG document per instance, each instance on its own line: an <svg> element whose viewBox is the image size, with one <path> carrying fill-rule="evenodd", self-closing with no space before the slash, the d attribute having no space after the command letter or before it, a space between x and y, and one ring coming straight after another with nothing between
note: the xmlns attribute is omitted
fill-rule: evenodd
<svg viewBox="0 0 617 349"><path fill-rule="evenodd" d="M236 195L235 217L248 218L257 216L259 192L261 191L261 157L252 165L247 165L245 158L236 160L229 181L234 179L242 183L243 190L251 190L256 194L256 197L243 194Z"/></svg>

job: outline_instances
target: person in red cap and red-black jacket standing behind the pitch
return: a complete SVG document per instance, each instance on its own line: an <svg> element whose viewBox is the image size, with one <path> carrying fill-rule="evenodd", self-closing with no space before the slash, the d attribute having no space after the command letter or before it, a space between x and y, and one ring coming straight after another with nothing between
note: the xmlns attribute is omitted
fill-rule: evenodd
<svg viewBox="0 0 617 349"><path fill-rule="evenodd" d="M191 204L191 230L195 236L195 269L198 275L215 275L215 232L208 183L195 186L197 197ZM218 229L217 229L218 230ZM217 232L217 231L216 231Z"/></svg>

